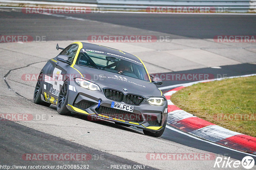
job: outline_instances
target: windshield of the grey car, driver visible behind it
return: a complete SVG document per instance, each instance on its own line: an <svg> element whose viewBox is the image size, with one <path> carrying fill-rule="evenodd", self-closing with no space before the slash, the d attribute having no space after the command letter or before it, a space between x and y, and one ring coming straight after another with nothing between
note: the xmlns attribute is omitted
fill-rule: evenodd
<svg viewBox="0 0 256 170"><path fill-rule="evenodd" d="M143 66L103 53L80 52L76 64L149 81L148 74Z"/></svg>

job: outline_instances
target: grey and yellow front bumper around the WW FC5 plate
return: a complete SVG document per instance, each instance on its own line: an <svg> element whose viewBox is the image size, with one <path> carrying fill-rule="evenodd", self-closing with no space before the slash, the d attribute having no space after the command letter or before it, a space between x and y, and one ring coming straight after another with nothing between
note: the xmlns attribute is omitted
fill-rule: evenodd
<svg viewBox="0 0 256 170"><path fill-rule="evenodd" d="M98 105L99 99L100 105ZM161 131L165 127L167 101L162 106L151 105L145 100L140 105L118 102L133 106L133 112L111 108L112 102L113 100L108 99L103 91L84 89L76 82L70 81L67 108L71 112L87 115L92 121L104 119L153 132Z"/></svg>

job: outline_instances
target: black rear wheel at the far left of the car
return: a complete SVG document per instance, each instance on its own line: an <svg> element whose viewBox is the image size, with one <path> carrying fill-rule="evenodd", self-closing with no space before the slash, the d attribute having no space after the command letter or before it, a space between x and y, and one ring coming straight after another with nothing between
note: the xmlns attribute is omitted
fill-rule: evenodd
<svg viewBox="0 0 256 170"><path fill-rule="evenodd" d="M42 90L43 90L42 84L43 84L43 74L40 74L38 76L38 79L37 79L37 82L36 82L33 102L36 103L36 104L40 104L40 105L49 107L51 105L51 103L44 102L44 101L41 100L41 94L42 94Z"/></svg>

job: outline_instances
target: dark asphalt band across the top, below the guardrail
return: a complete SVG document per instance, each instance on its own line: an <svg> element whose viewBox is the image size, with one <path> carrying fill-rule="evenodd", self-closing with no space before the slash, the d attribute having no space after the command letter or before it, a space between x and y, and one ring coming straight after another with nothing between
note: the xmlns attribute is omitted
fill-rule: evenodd
<svg viewBox="0 0 256 170"><path fill-rule="evenodd" d="M63 19L40 14L1 12L0 34L28 34L46 36L46 40L87 39L89 35L148 35L131 32L128 28L145 32L162 32L176 38L212 39L216 35L256 35L256 15L184 15L184 14L59 14L88 20ZM11 21L11 22L10 22ZM95 26L93 21L102 24ZM126 26L126 30L113 29L104 23ZM112 34L111 34L112 33ZM132 34L133 33L133 34Z"/></svg>

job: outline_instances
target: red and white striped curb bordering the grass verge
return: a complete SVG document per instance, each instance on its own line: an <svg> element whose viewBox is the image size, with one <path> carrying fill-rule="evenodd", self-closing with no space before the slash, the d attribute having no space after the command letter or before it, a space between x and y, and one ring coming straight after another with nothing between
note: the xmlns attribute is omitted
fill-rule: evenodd
<svg viewBox="0 0 256 170"><path fill-rule="evenodd" d="M226 77L226 78L248 77L253 75L256 75L256 74L233 76L233 77ZM216 80L222 80L222 79L224 78L196 81L191 83L159 88L159 89L168 89L175 86L176 87L179 86L177 88L174 88L164 93L164 96L168 101L167 124L170 126L173 126L174 128L179 129L180 131L186 132L198 138L202 138L204 140L207 140L219 145L223 145L238 151L256 154L256 138L248 135L244 135L242 133L230 131L216 124L205 121L199 117L193 116L192 114L184 110L181 110L180 108L175 106L170 100L170 97L172 96L172 94L174 94L175 92L177 92L182 88L191 86L199 82L209 82L209 81L216 81Z"/></svg>

